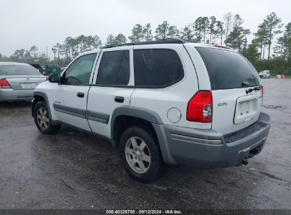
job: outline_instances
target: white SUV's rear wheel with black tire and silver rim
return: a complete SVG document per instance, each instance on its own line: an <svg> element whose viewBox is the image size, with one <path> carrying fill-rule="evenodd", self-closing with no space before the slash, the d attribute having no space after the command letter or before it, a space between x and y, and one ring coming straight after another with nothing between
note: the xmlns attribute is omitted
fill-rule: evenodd
<svg viewBox="0 0 291 215"><path fill-rule="evenodd" d="M152 182L166 169L158 143L151 132L140 127L130 127L122 133L120 156L127 173L139 182Z"/></svg>

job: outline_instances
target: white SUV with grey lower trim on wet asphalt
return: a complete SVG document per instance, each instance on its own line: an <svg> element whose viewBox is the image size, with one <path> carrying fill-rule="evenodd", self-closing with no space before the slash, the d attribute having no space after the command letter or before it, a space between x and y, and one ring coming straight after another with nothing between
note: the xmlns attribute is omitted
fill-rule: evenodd
<svg viewBox="0 0 291 215"><path fill-rule="evenodd" d="M140 182L158 178L165 164L246 164L270 129L258 73L218 45L165 39L106 46L49 80L34 92L40 132L68 124L103 136Z"/></svg>

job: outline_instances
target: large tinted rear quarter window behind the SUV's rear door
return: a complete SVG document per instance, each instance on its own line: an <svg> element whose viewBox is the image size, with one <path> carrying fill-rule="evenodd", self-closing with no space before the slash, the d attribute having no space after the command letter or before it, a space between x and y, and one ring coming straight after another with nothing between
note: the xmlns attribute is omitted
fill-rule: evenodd
<svg viewBox="0 0 291 215"><path fill-rule="evenodd" d="M173 50L135 50L135 86L164 88L183 79L183 66Z"/></svg>

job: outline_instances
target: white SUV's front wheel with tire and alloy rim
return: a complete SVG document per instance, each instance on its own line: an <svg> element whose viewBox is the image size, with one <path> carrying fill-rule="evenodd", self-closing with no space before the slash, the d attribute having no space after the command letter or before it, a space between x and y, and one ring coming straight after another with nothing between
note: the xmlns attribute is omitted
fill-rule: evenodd
<svg viewBox="0 0 291 215"><path fill-rule="evenodd" d="M59 132L62 124L52 124L52 119L50 119L45 101L40 101L35 105L33 115L35 125L38 127L38 130L42 132L42 134L55 134Z"/></svg>

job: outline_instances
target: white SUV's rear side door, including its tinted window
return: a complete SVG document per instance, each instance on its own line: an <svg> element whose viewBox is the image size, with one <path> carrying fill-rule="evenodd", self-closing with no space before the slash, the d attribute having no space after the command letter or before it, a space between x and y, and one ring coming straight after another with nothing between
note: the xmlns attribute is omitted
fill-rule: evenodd
<svg viewBox="0 0 291 215"><path fill-rule="evenodd" d="M130 105L130 96L135 90L133 77L131 46L102 50L87 106L92 132L110 138L113 111L120 106Z"/></svg>

